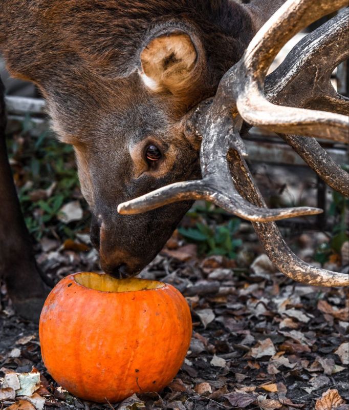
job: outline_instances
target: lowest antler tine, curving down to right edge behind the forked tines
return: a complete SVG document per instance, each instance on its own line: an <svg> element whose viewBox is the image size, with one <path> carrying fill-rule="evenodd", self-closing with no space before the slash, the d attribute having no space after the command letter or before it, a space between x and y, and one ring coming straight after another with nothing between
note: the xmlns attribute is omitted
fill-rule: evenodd
<svg viewBox="0 0 349 410"><path fill-rule="evenodd" d="M246 162L234 150L228 155L231 174L239 193L256 206L266 207L255 187ZM287 246L275 222L253 222L260 242L280 272L291 279L315 286L349 286L349 275L326 271L299 259Z"/></svg>

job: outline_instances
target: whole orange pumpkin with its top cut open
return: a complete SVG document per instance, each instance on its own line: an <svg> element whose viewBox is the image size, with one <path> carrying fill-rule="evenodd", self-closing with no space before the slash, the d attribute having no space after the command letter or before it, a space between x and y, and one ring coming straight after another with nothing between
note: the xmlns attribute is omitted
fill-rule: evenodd
<svg viewBox="0 0 349 410"><path fill-rule="evenodd" d="M191 328L188 304L173 286L81 272L51 291L39 336L57 383L85 400L116 402L170 383Z"/></svg>

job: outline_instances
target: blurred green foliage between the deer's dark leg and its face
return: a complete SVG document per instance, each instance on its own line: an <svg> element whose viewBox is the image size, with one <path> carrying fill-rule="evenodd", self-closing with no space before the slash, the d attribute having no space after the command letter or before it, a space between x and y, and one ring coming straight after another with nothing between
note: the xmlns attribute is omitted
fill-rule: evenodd
<svg viewBox="0 0 349 410"><path fill-rule="evenodd" d="M59 236L62 241L74 238L75 232L87 226L90 214L81 201L86 215L83 220L66 224L58 219L63 204L81 198L73 147L62 144L49 129L38 137L33 135L35 131L35 124L26 116L18 129L8 132L7 139L28 230L36 240L43 235Z"/></svg>

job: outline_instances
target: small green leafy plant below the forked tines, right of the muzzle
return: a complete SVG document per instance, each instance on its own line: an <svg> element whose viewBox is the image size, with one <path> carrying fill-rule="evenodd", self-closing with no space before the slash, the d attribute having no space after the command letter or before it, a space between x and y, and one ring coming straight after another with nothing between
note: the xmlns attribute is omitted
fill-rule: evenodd
<svg viewBox="0 0 349 410"><path fill-rule="evenodd" d="M242 245L241 239L234 239L240 220L231 219L228 223L210 227L197 222L195 228L179 228L179 233L188 241L197 243L200 254L223 255L236 258L236 249Z"/></svg>

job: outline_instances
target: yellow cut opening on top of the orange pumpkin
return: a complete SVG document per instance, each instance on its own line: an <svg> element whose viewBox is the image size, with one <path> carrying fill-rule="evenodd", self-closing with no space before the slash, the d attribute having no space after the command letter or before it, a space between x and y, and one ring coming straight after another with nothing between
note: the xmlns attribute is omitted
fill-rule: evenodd
<svg viewBox="0 0 349 410"><path fill-rule="evenodd" d="M74 280L85 288L100 292L136 292L159 289L165 286L165 283L157 280L139 278L116 279L113 276L95 272L77 273L74 275Z"/></svg>

